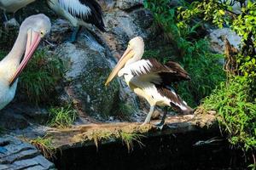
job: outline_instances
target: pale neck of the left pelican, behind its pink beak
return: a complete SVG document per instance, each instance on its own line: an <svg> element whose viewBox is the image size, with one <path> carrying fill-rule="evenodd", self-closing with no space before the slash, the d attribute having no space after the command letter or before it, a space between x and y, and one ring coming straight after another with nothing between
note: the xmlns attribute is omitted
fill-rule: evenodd
<svg viewBox="0 0 256 170"><path fill-rule="evenodd" d="M26 49L26 33L20 31L15 41L14 47L9 52L9 54L3 59L3 62L9 62L10 64L18 67L20 65L20 59L22 58L22 55L24 54L25 49Z"/></svg>

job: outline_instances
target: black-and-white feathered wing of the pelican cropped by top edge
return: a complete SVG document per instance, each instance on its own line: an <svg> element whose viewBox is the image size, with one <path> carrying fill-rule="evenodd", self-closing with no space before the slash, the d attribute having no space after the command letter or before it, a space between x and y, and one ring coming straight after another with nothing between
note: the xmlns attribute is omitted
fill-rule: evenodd
<svg viewBox="0 0 256 170"><path fill-rule="evenodd" d="M102 19L102 7L96 0L59 0L61 8L78 20L90 23L101 31L105 31Z"/></svg>

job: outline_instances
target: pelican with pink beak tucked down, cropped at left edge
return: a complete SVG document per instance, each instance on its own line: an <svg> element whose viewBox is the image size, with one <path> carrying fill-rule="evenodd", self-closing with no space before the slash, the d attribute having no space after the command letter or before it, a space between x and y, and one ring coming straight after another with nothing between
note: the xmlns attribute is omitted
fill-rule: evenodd
<svg viewBox="0 0 256 170"><path fill-rule="evenodd" d="M40 40L49 33L50 27L50 20L44 14L32 15L21 24L14 47L0 61L0 110L14 99L17 78L32 58ZM20 63L24 52L24 58Z"/></svg>

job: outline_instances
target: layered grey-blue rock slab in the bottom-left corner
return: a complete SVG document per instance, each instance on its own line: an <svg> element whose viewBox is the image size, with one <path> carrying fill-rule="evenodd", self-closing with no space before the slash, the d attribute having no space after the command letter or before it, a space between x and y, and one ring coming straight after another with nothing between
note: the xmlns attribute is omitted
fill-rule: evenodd
<svg viewBox="0 0 256 170"><path fill-rule="evenodd" d="M53 169L52 162L40 155L40 152L32 145L12 136L0 138L0 145L6 153L0 153L0 169Z"/></svg>

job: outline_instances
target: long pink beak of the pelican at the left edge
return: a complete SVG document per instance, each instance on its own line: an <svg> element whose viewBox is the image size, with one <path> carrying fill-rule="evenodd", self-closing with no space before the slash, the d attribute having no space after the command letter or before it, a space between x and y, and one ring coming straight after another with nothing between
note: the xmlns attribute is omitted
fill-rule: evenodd
<svg viewBox="0 0 256 170"><path fill-rule="evenodd" d="M32 58L32 54L38 48L38 44L41 41L41 36L38 32L32 31L30 29L27 31L27 40L26 40L26 52L24 58L22 59L17 71L15 72L14 77L12 77L10 81L10 87L16 81L16 79L20 76L20 73L24 70L27 65L27 62Z"/></svg>

